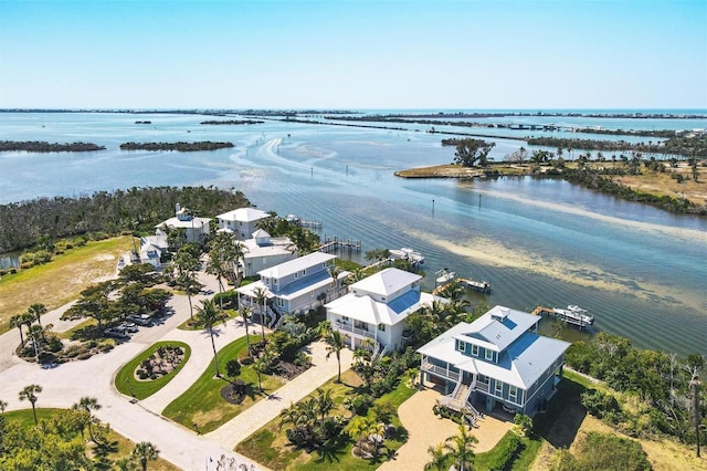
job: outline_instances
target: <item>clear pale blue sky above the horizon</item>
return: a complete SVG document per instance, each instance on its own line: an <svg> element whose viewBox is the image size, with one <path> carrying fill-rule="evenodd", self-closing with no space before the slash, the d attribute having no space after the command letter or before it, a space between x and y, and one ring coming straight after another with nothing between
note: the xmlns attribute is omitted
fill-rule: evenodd
<svg viewBox="0 0 707 471"><path fill-rule="evenodd" d="M707 108L707 1L0 0L0 107Z"/></svg>

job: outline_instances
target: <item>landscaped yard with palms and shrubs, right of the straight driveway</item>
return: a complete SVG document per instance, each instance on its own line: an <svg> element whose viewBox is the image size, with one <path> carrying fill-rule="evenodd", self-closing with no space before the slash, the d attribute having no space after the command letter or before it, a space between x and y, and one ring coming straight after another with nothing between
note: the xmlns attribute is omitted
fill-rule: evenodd
<svg viewBox="0 0 707 471"><path fill-rule="evenodd" d="M324 384L320 390L321 393L313 391L297 405L281 405L283 409L289 408L293 414L285 414L271 420L241 442L235 451L270 469L277 470L323 469L321 467L351 471L373 470L407 440L407 431L398 419L397 410L415 390L408 387L404 381L400 381L395 389L373 400L372 404L365 400L370 396L365 393L363 381L351 370L341 374L341 383L337 383L334 378ZM336 428L337 417L344 417L346 420L350 418L351 420L348 420L342 430L326 439L321 446L307 452L306 447L296 447L291 442L288 435L293 437L295 435L288 433L287 430L294 428L292 422L302 423L302 420L296 417L299 411L306 415L308 408L306 405L314 405L315 401L321 404L321 397L326 396L327 391L329 391L333 406L325 414L321 410L316 414L319 418L321 415L325 416L324 420L319 420L321 432L331 432L328 429ZM298 410L298 405L305 406ZM354 410L358 410L359 414L355 414ZM386 423L389 427L378 429L380 423ZM352 453L354 448L361 442L361 438L363 441L368 441L369 437L380 437L379 453L373 453L369 459L357 458Z"/></svg>

